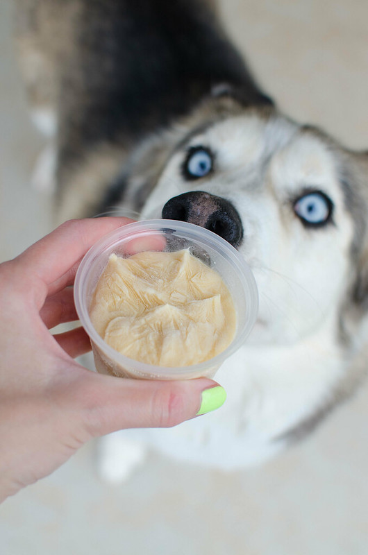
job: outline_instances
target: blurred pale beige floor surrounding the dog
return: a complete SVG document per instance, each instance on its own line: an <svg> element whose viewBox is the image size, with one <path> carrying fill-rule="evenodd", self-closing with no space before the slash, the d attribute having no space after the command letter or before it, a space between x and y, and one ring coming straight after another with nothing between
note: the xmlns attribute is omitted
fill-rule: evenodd
<svg viewBox="0 0 368 555"><path fill-rule="evenodd" d="M260 85L286 114L368 148L367 2L219 5ZM1 261L53 228L50 196L30 183L44 139L28 116L11 10L1 0ZM106 486L90 443L0 506L1 553L367 554L367 400L365 386L308 441L244 472L208 472L152 454L126 484Z"/></svg>

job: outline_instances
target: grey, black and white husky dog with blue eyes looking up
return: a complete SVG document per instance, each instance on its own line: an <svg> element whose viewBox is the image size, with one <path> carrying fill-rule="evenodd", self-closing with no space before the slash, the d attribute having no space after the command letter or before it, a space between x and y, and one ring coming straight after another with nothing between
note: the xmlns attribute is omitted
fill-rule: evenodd
<svg viewBox="0 0 368 555"><path fill-rule="evenodd" d="M254 330L216 376L224 407L107 436L106 477L143 445L232 469L309 434L365 375L367 153L281 114L210 0L19 0L17 30L35 120L54 133L58 219L202 225L259 289Z"/></svg>

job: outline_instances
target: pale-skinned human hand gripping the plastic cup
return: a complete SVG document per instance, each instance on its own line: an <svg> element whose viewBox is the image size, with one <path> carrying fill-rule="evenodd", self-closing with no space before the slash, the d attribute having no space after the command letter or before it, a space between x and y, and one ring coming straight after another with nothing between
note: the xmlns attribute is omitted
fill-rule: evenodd
<svg viewBox="0 0 368 555"><path fill-rule="evenodd" d="M194 418L210 379L158 382L87 370L90 350L72 284L78 264L124 218L68 221L0 264L0 502L65 463L92 438L117 429L171 427Z"/></svg>

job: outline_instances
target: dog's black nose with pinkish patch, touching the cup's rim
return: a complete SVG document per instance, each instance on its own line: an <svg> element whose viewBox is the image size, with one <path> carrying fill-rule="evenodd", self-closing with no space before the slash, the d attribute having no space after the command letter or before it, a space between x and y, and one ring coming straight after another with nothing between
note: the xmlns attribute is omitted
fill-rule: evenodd
<svg viewBox="0 0 368 555"><path fill-rule="evenodd" d="M235 247L242 241L242 221L235 207L228 200L204 191L191 191L170 198L162 208L162 218L201 225Z"/></svg>

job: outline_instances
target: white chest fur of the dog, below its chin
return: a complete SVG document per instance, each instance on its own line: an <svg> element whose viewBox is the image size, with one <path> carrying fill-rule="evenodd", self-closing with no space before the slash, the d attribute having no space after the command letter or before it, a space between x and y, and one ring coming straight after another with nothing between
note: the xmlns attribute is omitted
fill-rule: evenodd
<svg viewBox="0 0 368 555"><path fill-rule="evenodd" d="M244 346L215 376L228 394L221 409L172 429L123 433L174 459L226 470L256 465L281 450L278 436L308 418L331 391L340 364L328 341L322 343Z"/></svg>

